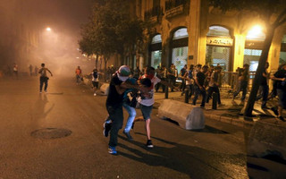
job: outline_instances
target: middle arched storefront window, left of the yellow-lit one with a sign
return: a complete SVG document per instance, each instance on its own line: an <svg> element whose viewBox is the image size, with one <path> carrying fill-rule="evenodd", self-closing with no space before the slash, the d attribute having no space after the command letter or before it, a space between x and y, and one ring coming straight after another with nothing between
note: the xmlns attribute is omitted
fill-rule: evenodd
<svg viewBox="0 0 286 179"><path fill-rule="evenodd" d="M173 33L171 40L171 49L172 49L172 64L174 64L178 70L181 71L181 68L187 64L188 59L188 31L187 28L181 28L176 30Z"/></svg>

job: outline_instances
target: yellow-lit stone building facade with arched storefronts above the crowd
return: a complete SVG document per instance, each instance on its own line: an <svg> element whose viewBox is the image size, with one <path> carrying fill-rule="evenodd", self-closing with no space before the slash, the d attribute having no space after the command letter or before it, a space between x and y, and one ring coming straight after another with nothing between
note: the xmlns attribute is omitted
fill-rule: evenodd
<svg viewBox="0 0 286 179"><path fill-rule="evenodd" d="M221 13L206 0L136 0L132 12L150 27L146 50L128 57L131 67L175 64L220 64L235 72L243 64L256 71L265 34L258 19L240 12ZM277 69L286 62L286 24L275 31L268 62Z"/></svg>

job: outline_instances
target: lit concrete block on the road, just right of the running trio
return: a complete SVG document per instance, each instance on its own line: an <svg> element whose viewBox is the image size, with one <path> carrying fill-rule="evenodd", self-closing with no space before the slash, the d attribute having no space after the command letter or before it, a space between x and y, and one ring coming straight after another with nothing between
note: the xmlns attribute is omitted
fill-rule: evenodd
<svg viewBox="0 0 286 179"><path fill-rule="evenodd" d="M198 108L192 112L193 108ZM205 127L205 115L199 107L191 107L189 104L164 99L158 108L158 116L170 118L184 129L202 129ZM188 125L188 126L187 126Z"/></svg>

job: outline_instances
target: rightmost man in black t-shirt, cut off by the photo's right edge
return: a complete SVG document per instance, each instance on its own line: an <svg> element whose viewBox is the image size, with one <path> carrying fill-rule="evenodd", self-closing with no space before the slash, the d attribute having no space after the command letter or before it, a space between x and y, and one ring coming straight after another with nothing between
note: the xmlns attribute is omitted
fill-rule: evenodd
<svg viewBox="0 0 286 179"><path fill-rule="evenodd" d="M279 98L278 104L278 118L282 121L282 110L286 109L286 64L282 64L281 70L275 72L273 80L277 81L277 94Z"/></svg>

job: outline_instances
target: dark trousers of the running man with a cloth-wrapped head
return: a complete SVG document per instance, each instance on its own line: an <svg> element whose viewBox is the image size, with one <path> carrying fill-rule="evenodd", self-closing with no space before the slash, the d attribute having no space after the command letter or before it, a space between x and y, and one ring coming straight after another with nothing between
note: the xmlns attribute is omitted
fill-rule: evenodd
<svg viewBox="0 0 286 179"><path fill-rule="evenodd" d="M123 110L122 110L122 104L118 106L107 106L106 109L108 112L108 118L107 120L111 120L111 130L110 130L110 139L108 145L111 147L117 146L117 137L118 137L118 131L122 129L123 124Z"/></svg>

